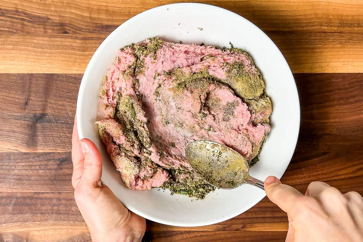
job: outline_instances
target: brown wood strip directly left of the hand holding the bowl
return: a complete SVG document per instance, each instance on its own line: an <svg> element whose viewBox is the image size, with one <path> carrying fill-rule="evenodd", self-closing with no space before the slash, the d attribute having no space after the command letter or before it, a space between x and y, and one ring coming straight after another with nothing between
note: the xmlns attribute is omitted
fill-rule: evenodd
<svg viewBox="0 0 363 242"><path fill-rule="evenodd" d="M0 153L0 190L73 193L72 171L70 152Z"/></svg>

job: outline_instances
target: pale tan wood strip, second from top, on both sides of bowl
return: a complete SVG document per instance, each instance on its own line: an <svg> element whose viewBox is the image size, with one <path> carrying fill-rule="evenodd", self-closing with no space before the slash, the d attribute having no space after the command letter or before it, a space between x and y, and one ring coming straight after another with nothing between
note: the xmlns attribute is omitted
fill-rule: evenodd
<svg viewBox="0 0 363 242"><path fill-rule="evenodd" d="M83 73L107 35L3 34L0 73ZM269 36L294 73L363 72L362 33L283 32Z"/></svg>

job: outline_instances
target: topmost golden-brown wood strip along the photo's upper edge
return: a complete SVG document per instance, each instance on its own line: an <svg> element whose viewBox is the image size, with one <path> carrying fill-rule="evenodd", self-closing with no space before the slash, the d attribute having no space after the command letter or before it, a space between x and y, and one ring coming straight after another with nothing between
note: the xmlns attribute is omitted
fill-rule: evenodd
<svg viewBox="0 0 363 242"><path fill-rule="evenodd" d="M111 32L127 19L171 0L1 0L0 33L85 34ZM208 3L244 16L262 30L309 33L362 33L360 0L227 0Z"/></svg>

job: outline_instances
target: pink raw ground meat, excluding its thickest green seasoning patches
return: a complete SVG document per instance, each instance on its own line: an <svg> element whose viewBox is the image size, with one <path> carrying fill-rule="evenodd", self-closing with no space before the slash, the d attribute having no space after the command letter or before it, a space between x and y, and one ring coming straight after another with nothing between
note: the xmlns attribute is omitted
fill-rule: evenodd
<svg viewBox="0 0 363 242"><path fill-rule="evenodd" d="M148 39L138 45L148 46L152 41L155 40ZM241 63L241 72L246 75L259 75L245 53L212 46L163 42L156 53L137 55L131 47L117 53L101 91L103 110L108 119L98 122L99 126L105 124L107 135L101 137L110 155L117 154L117 147L124 147L129 153L122 153L121 149L117 156L132 156L127 161L118 158L117 162L124 160L125 164L136 164L146 157L155 165L148 170L138 169L137 174L130 176L130 172L123 168L125 166L118 163L116 166L130 188L143 190L162 185L168 179L168 173L160 167L189 169L185 147L195 140L225 144L240 152L248 161L257 155L270 131L270 126L262 120L268 120L271 110L262 108L255 112L255 107L261 107L261 101L251 99L248 103L253 106L248 106L235 94L235 90L223 84L228 83L228 66L234 63ZM135 68L135 64L139 63L142 63L140 73L130 74L129 68ZM127 71L128 75L125 75ZM178 80L173 74L176 71L184 75L207 71L220 82L208 82L204 86L176 92L174 87ZM262 91L258 95L262 95ZM144 150L137 150L123 134L121 125L112 119L118 98L126 95L137 96L144 111L136 112L136 118L145 124L152 141L151 147ZM265 106L270 107L268 97L265 101Z"/></svg>

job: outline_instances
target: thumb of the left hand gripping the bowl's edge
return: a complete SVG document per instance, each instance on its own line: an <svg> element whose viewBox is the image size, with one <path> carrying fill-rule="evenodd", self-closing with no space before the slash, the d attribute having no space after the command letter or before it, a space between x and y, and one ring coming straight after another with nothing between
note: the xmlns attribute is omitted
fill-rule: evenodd
<svg viewBox="0 0 363 242"><path fill-rule="evenodd" d="M97 146L89 139L81 139L85 153L84 171L81 181L86 186L101 187L102 156Z"/></svg>

